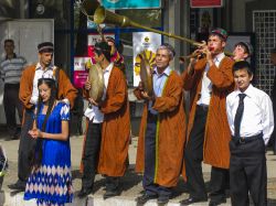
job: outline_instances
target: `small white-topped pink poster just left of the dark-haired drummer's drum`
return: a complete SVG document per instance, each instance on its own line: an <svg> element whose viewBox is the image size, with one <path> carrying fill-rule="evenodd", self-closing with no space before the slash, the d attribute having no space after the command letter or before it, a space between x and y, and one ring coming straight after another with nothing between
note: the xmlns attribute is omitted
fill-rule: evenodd
<svg viewBox="0 0 276 206"><path fill-rule="evenodd" d="M75 56L74 57L74 86L76 88L83 88L88 73L85 69L86 62L89 61L88 56Z"/></svg>

